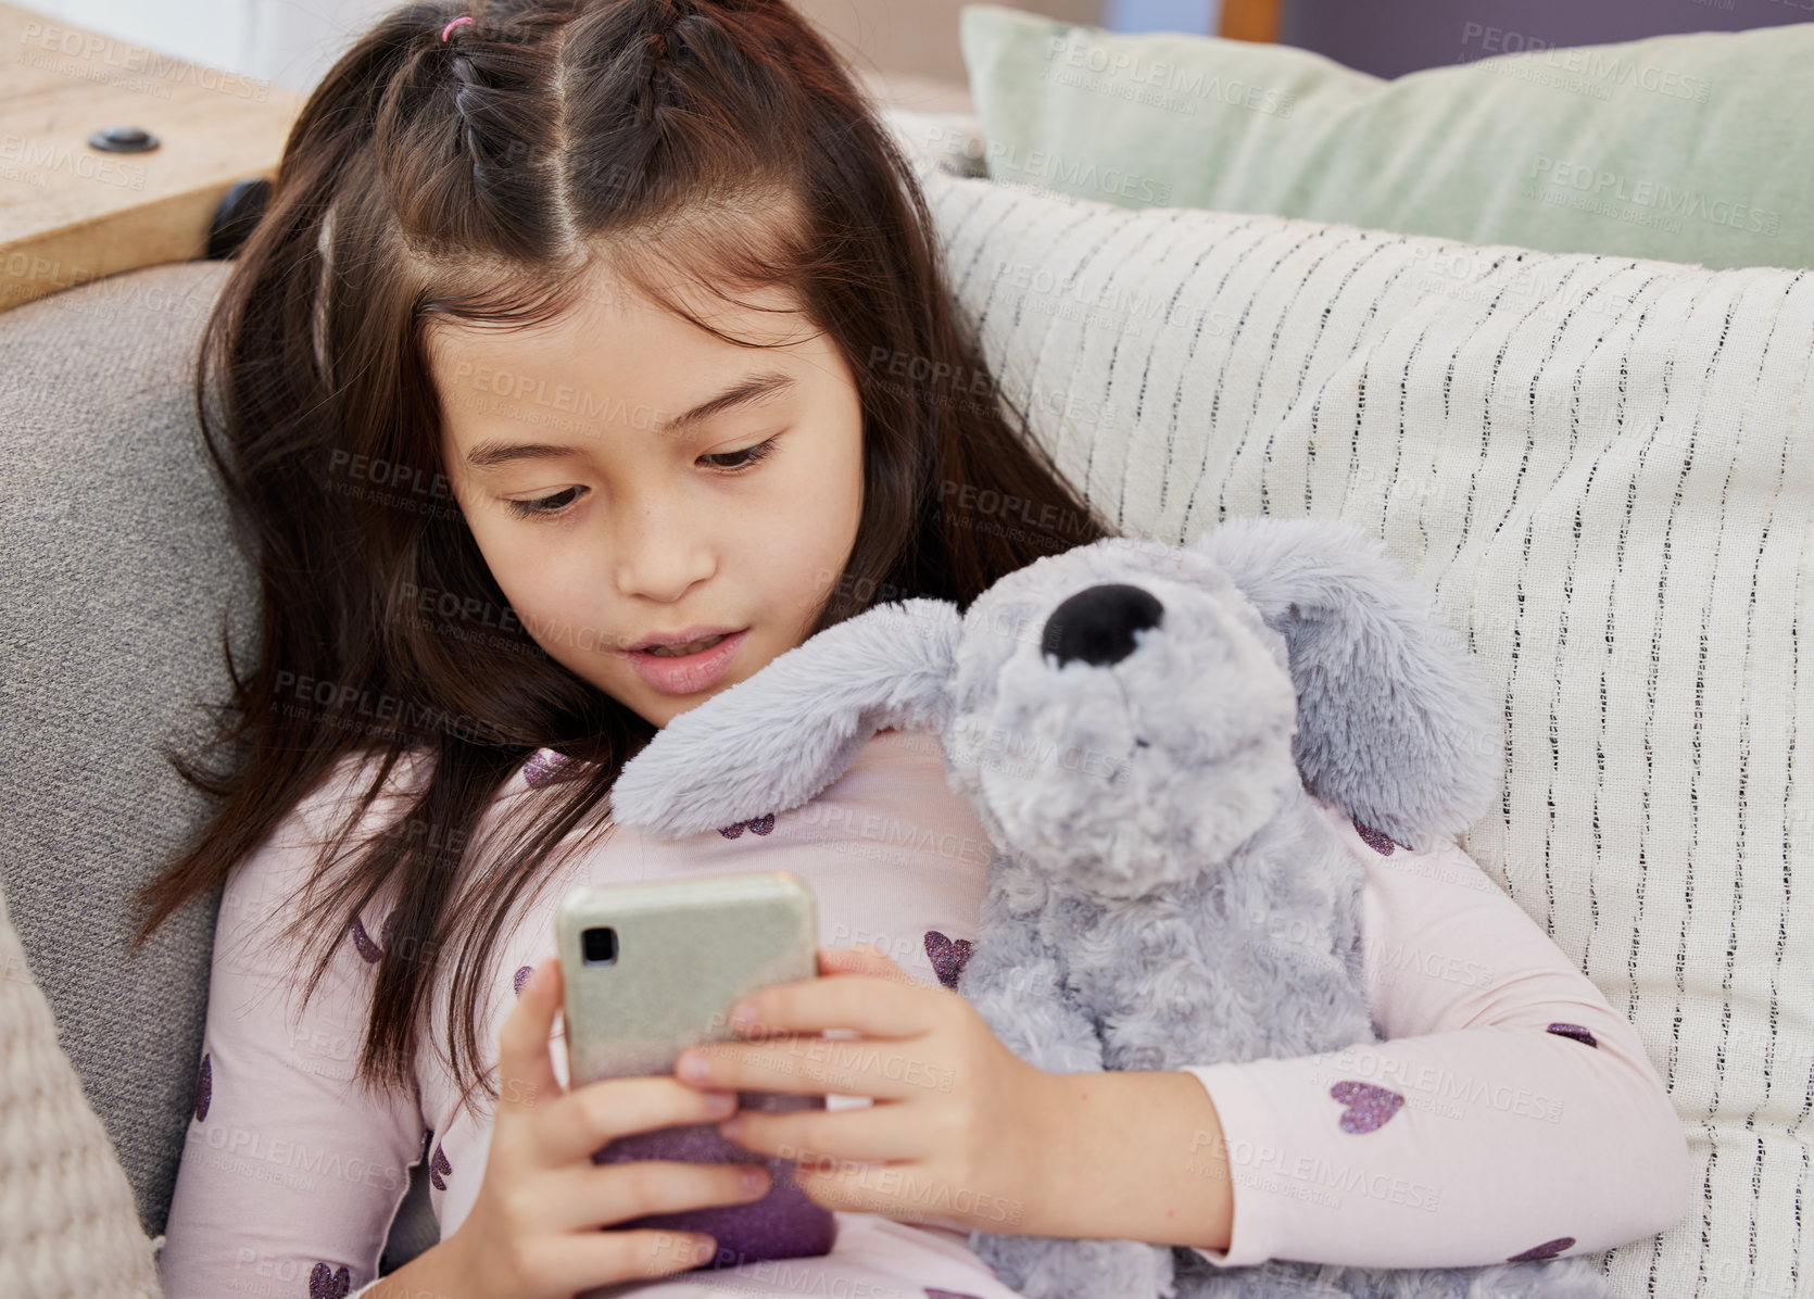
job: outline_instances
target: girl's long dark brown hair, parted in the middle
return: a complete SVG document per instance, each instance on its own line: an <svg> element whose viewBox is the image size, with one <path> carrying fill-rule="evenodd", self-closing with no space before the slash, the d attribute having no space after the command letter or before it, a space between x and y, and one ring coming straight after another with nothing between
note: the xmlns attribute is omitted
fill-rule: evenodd
<svg viewBox="0 0 1814 1299"><path fill-rule="evenodd" d="M435 321L550 319L608 259L651 301L755 347L668 296L660 270L722 296L789 290L863 410L862 523L813 631L878 601L967 606L1112 530L1025 414L978 383L911 163L789 5L499 0L443 42L464 13L395 9L328 71L209 317L196 405L258 570L261 653L241 675L223 633L234 698L200 753L169 755L223 802L140 891L134 949L346 762L370 782L285 933L314 922L305 998L383 891L388 923L357 934L368 958L383 934L357 1076L410 1085L441 954L457 947L448 1065L466 1092L495 1096L475 1040L493 945L568 835L610 825L611 782L655 728L542 653L452 497L421 490L446 483ZM470 842L542 746L575 762L521 802L502 847L502 833ZM394 782L415 762L423 778ZM354 836L386 784L403 813Z"/></svg>

